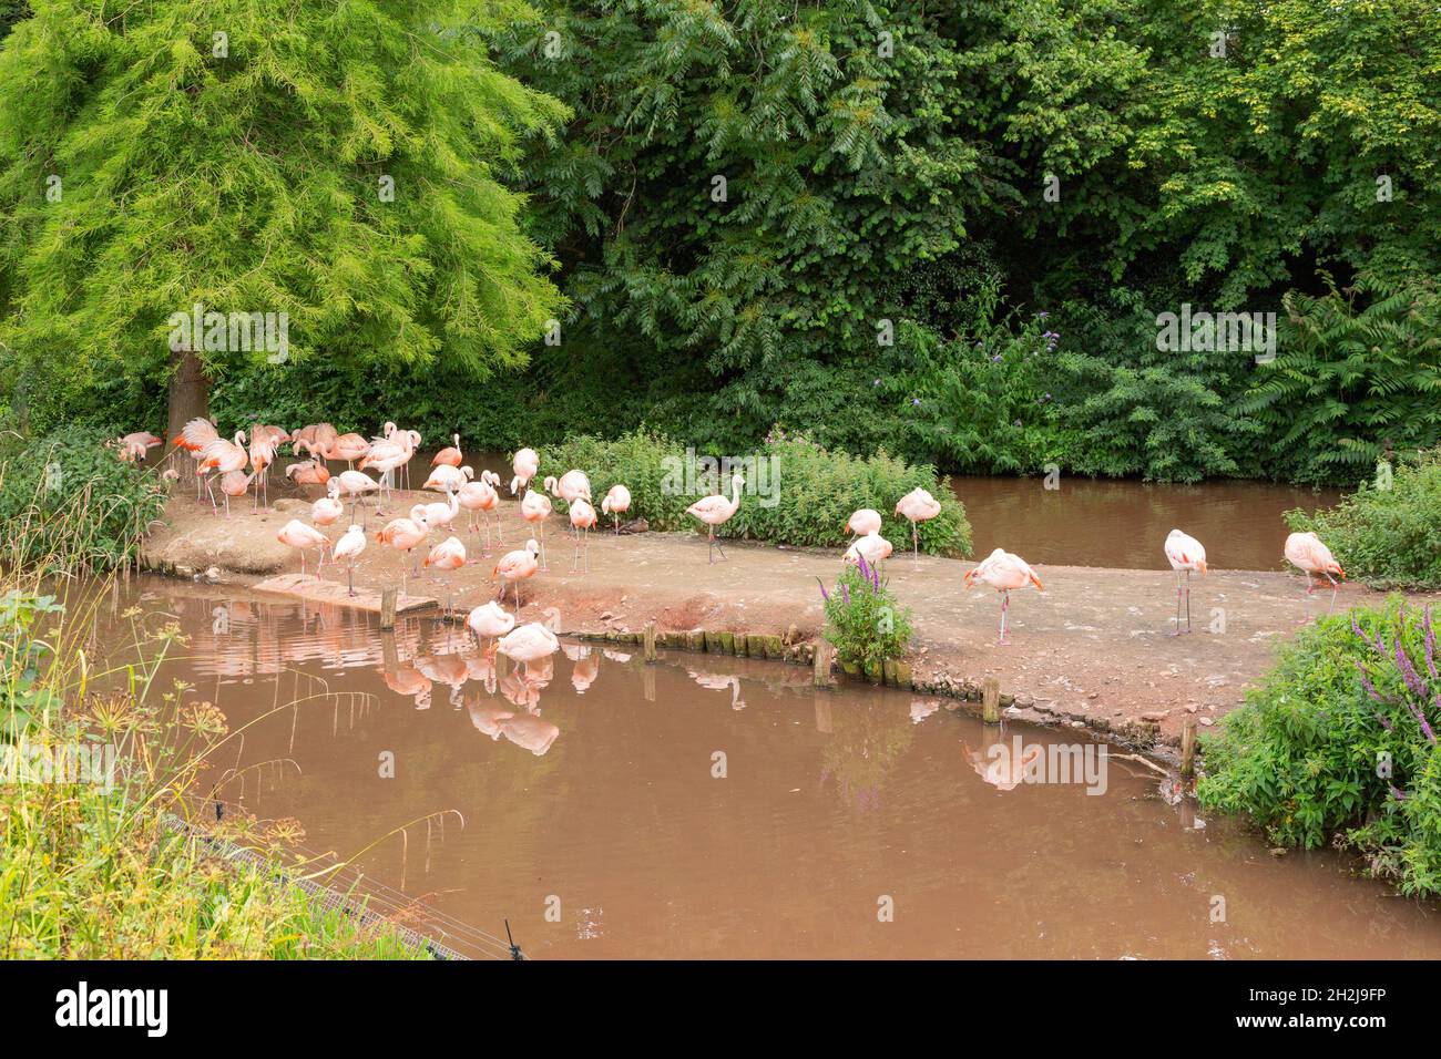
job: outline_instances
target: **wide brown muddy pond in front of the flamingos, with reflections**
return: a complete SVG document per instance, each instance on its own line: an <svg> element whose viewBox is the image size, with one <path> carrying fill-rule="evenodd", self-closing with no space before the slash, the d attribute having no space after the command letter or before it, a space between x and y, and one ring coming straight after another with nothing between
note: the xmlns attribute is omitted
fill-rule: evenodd
<svg viewBox="0 0 1441 1059"><path fill-rule="evenodd" d="M131 602L192 637L167 663L190 696L232 730L262 718L216 798L297 818L471 955L496 949L463 925L509 918L536 958L1441 957L1435 906L1330 852L1271 856L1133 762L1092 795L980 756L1069 741L1101 768L1082 735L684 653L565 644L526 680L437 618L382 634L156 578L117 592L101 641Z"/></svg>

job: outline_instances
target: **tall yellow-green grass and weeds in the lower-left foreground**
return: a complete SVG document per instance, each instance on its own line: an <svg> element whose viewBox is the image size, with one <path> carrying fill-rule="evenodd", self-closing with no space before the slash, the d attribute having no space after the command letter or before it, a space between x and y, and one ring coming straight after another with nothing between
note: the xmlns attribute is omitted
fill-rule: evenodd
<svg viewBox="0 0 1441 1059"><path fill-rule="evenodd" d="M0 752L14 762L36 748L108 745L117 769L111 787L0 778L0 960L416 955L389 925L324 911L274 870L220 860L167 826L202 818L238 733L213 703L163 680L186 645L173 621L121 612L127 643L104 669L94 641L114 582L48 573L79 562L66 543L85 548L7 542L12 558L36 562L0 565ZM294 823L233 813L209 830L271 863L298 837Z"/></svg>

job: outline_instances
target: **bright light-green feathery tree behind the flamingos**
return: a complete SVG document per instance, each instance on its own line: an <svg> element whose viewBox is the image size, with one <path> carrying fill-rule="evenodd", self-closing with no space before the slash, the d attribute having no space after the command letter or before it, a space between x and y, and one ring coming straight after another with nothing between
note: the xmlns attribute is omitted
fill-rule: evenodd
<svg viewBox="0 0 1441 1059"><path fill-rule="evenodd" d="M169 382L174 429L236 365L483 376L559 311L500 179L566 111L476 32L523 7L30 7L0 48L12 372Z"/></svg>

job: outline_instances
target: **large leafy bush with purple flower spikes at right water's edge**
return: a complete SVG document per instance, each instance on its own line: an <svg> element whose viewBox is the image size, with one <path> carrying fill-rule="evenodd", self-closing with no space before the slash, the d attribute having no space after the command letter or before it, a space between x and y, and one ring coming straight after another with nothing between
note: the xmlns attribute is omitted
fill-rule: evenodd
<svg viewBox="0 0 1441 1059"><path fill-rule="evenodd" d="M1334 836L1402 892L1441 893L1441 728L1429 608L1392 598L1304 630L1203 741L1202 804L1272 841Z"/></svg>

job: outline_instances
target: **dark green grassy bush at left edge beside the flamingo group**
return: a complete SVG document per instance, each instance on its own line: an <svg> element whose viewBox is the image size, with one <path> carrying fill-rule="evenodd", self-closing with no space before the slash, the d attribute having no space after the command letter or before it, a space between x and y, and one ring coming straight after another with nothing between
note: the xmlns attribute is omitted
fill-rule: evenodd
<svg viewBox="0 0 1441 1059"><path fill-rule="evenodd" d="M107 441L99 429L76 428L0 452L6 562L111 569L138 553L146 527L164 510L166 488Z"/></svg>

